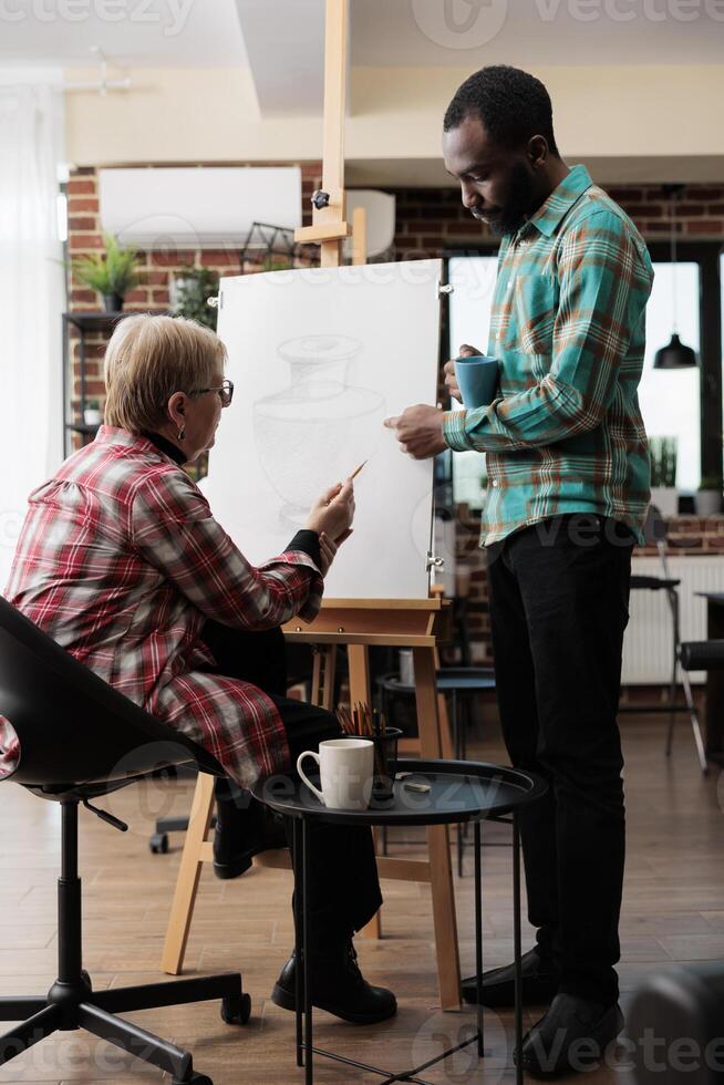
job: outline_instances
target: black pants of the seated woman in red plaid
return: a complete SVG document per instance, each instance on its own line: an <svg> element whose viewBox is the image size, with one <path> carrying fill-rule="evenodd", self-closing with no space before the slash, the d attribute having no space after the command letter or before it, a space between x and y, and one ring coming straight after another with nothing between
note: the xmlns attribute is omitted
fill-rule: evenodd
<svg viewBox="0 0 724 1085"><path fill-rule="evenodd" d="M304 750L319 748L324 738L335 738L340 725L331 712L303 701L292 701L287 691L285 638L279 629L247 633L207 621L204 641L211 649L220 674L254 682L279 709L291 754L292 774ZM229 782L230 783L230 782ZM248 793L230 784L239 818L258 816ZM286 819L289 846L292 826ZM299 879L301 884L301 879ZM310 823L309 909L312 941L318 948L350 938L368 923L382 905L374 841L369 828Z"/></svg>

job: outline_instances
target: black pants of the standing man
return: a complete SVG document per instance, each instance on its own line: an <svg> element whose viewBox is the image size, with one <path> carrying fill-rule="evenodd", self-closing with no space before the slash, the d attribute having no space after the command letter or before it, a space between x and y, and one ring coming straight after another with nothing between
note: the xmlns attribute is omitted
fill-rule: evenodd
<svg viewBox="0 0 724 1085"><path fill-rule="evenodd" d="M513 764L548 781L521 817L528 918L561 991L618 998L624 808L617 712L633 537L554 517L488 548L498 704Z"/></svg>

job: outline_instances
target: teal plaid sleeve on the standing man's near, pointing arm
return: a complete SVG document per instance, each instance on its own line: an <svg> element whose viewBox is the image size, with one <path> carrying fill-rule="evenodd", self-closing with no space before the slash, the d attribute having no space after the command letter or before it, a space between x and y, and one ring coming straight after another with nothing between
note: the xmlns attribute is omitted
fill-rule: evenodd
<svg viewBox="0 0 724 1085"><path fill-rule="evenodd" d="M643 320L651 275L627 224L597 211L565 237L550 371L531 389L489 406L445 414L457 452L507 452L555 444L600 425L619 365Z"/></svg>

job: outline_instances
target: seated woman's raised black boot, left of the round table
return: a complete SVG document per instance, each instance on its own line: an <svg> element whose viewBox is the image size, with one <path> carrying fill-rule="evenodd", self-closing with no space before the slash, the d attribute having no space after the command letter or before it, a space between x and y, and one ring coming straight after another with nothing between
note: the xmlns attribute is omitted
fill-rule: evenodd
<svg viewBox="0 0 724 1085"><path fill-rule="evenodd" d="M214 874L217 878L238 878L251 866L255 855L287 847L283 822L244 795L231 781L216 782L216 836Z"/></svg>

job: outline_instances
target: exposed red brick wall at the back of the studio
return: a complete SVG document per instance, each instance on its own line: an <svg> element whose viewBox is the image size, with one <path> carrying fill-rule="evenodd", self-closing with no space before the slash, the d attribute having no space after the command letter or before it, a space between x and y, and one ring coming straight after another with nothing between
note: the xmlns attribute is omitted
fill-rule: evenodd
<svg viewBox="0 0 724 1085"><path fill-rule="evenodd" d="M309 197L321 184L320 163L302 164L303 218L311 218ZM670 230L669 205L660 186L625 185L610 187L610 195L624 208L649 240L666 237ZM480 240L492 240L486 228L476 223L461 203L456 189L410 188L395 190L397 224L393 257L399 260L430 259L439 257L453 247L475 248ZM684 239L703 240L724 238L724 185L690 185L676 208L678 234ZM99 199L96 170L82 167L69 183L69 245L73 256L102 245L99 227ZM126 299L130 309L163 310L169 304L169 282L183 265L208 267L220 275L239 271L238 251L235 246L217 249L178 251L167 249L142 254L142 283ZM99 308L93 291L71 285L72 309ZM76 348L75 348L76 349ZM101 397L101 359L104 339L97 337L90 344L90 371L87 394ZM75 355L73 355L75 356ZM75 374L76 376L77 374ZM76 390L77 393L77 390ZM697 517L678 517L671 523L672 542L683 554L724 551L724 517L701 520ZM469 624L474 649L479 661L489 660L489 621L487 614L487 583L485 555L478 548L479 525L459 510L457 525L458 562L469 567Z"/></svg>

